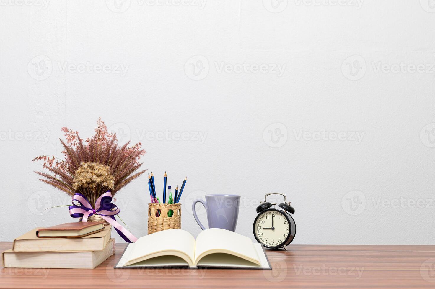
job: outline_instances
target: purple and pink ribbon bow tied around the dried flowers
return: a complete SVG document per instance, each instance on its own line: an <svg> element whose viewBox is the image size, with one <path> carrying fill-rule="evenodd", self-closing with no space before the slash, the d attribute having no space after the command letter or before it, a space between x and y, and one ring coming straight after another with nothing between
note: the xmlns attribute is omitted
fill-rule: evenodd
<svg viewBox="0 0 435 289"><path fill-rule="evenodd" d="M74 201L80 203L81 206L77 206ZM70 216L73 218L83 217L82 221L87 222L87 218L92 215L98 215L103 218L107 223L112 225L118 232L119 236L122 237L126 242L134 243L137 238L127 231L120 223L115 219L115 215L120 212L120 209L112 204L112 193L108 190L106 193L102 194L95 202L94 208L91 206L89 201L80 193L76 193L71 202L72 206L69 206Z"/></svg>

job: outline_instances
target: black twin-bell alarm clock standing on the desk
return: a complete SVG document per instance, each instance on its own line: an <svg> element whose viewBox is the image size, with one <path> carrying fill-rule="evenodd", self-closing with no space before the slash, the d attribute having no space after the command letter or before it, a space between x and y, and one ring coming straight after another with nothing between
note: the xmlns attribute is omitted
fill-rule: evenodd
<svg viewBox="0 0 435 289"><path fill-rule="evenodd" d="M278 206L281 209L271 209L276 203L266 202L269 195L284 196L284 203ZM257 207L258 216L254 220L255 239L260 242L265 248L279 249L284 248L291 243L296 234L296 224L289 213L294 214L294 208L287 203L286 197L280 193L270 193L264 196L264 203Z"/></svg>

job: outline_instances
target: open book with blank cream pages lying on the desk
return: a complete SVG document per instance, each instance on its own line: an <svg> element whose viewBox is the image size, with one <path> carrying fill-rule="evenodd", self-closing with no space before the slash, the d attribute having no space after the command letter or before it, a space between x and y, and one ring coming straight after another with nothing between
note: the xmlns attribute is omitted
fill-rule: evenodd
<svg viewBox="0 0 435 289"><path fill-rule="evenodd" d="M271 269L260 243L224 229L207 229L196 238L181 229L143 236L130 243L115 268L189 266Z"/></svg>

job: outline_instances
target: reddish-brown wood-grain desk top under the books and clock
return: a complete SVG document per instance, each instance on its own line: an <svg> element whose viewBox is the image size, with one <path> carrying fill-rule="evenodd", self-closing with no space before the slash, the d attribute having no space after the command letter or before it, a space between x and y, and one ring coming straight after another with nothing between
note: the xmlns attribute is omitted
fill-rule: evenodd
<svg viewBox="0 0 435 289"><path fill-rule="evenodd" d="M267 251L272 270L113 269L124 247L92 270L0 268L0 288L435 288L435 246L293 245Z"/></svg>

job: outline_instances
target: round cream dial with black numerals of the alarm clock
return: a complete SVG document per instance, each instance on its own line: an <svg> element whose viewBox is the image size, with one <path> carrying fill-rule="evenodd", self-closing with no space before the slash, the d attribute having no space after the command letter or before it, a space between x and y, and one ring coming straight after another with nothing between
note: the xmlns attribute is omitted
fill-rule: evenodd
<svg viewBox="0 0 435 289"><path fill-rule="evenodd" d="M267 247L285 245L290 231L288 218L278 210L266 210L254 222L256 239Z"/></svg>

